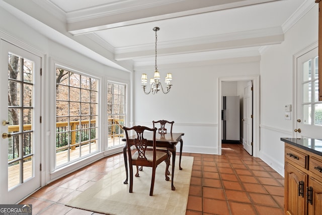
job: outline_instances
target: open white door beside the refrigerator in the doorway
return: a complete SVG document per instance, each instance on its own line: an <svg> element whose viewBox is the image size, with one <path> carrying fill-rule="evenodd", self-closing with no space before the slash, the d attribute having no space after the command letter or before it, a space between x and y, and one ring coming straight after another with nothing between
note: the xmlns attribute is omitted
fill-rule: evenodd
<svg viewBox="0 0 322 215"><path fill-rule="evenodd" d="M249 81L244 88L243 146L253 155L253 82Z"/></svg>

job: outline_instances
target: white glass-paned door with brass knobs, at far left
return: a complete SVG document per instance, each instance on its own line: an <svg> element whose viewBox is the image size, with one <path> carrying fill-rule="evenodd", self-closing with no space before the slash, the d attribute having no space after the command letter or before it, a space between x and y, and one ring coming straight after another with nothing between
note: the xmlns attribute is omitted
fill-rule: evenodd
<svg viewBox="0 0 322 215"><path fill-rule="evenodd" d="M0 41L0 203L40 187L41 58Z"/></svg>

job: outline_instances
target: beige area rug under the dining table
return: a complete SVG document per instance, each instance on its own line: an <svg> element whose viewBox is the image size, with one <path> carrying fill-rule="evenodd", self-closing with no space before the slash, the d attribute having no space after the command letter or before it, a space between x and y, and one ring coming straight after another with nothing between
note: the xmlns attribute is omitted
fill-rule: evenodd
<svg viewBox="0 0 322 215"><path fill-rule="evenodd" d="M124 166L108 173L87 190L67 202L67 206L105 214L186 214L193 157L182 156L179 170L179 157L176 158L174 185L165 180L166 164L156 168L153 196L149 196L151 168L143 167L140 177L133 176L133 193L125 180ZM171 172L171 166L169 168ZM135 174L136 168L133 168Z"/></svg>

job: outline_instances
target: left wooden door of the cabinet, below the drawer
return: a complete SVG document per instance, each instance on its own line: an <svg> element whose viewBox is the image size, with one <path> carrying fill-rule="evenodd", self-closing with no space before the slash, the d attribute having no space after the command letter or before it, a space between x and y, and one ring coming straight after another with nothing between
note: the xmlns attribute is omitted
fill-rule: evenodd
<svg viewBox="0 0 322 215"><path fill-rule="evenodd" d="M306 192L304 190L306 184L307 175L292 165L285 163L284 210L286 214L303 215L305 213Z"/></svg>

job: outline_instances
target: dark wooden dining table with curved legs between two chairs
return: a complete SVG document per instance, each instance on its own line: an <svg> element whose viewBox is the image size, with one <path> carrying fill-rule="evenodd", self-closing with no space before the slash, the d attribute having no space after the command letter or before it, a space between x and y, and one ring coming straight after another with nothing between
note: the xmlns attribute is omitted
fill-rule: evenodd
<svg viewBox="0 0 322 215"><path fill-rule="evenodd" d="M145 132L144 138L147 139L148 146L152 146L153 144L153 133L152 132ZM155 134L155 141L156 147L163 147L167 148L172 154L172 175L171 175L171 189L175 190L176 187L174 186L173 179L175 175L175 163L176 163L176 151L177 151L177 144L180 142L180 154L179 154L179 169L182 170L181 167L181 156L182 156L182 146L183 140L182 136L185 135L184 133L156 133ZM129 141L133 142L136 138L136 135L129 136ZM126 141L126 138L122 138L122 141ZM123 155L124 155L124 164L125 164L125 171L126 171L126 179L124 184L128 182L128 166L127 166L127 146L125 144L123 148Z"/></svg>

